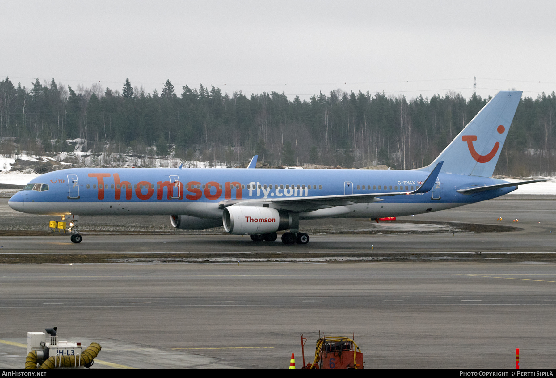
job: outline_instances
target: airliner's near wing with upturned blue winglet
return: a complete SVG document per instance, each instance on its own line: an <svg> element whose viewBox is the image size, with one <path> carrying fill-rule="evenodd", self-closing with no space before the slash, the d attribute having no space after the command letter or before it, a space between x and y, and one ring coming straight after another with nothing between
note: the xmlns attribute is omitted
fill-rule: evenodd
<svg viewBox="0 0 556 378"><path fill-rule="evenodd" d="M312 197L287 197L287 198L256 198L253 200L227 200L222 201L219 204L219 208L225 208L227 206L237 205L255 205L255 203L260 206L261 203L275 203L281 206L295 206L296 208L321 208L320 206L330 207L330 206L346 206L353 205L353 203L366 203L366 202L378 202L384 201L377 197L389 197L389 196L401 196L408 194L426 193L430 191L438 177L444 161L439 162L434 170L430 172L430 175L423 182L423 185L418 187L414 191L403 191L403 192L379 192L379 193L363 193L363 194L348 194L348 195L336 195L336 196L312 196ZM255 206L257 206L255 205ZM291 209L292 211L293 208Z"/></svg>

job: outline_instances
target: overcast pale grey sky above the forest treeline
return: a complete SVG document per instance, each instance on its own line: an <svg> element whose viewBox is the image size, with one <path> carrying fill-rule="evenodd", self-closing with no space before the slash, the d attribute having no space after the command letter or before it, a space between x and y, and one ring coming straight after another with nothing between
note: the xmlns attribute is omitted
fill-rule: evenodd
<svg viewBox="0 0 556 378"><path fill-rule="evenodd" d="M556 90L554 1L0 1L0 75L160 92Z"/></svg>

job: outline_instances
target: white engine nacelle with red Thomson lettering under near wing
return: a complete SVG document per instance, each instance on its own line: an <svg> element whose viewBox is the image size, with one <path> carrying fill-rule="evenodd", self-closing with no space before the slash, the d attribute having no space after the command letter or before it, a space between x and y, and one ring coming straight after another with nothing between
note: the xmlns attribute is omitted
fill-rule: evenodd
<svg viewBox="0 0 556 378"><path fill-rule="evenodd" d="M287 230L291 215L287 211L262 206L229 206L222 213L224 230L235 235L260 235Z"/></svg>

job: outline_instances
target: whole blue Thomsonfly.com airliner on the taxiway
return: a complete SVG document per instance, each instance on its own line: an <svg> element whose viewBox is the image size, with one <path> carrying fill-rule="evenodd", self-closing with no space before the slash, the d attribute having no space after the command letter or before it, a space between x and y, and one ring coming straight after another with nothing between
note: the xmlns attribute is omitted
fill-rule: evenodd
<svg viewBox="0 0 556 378"><path fill-rule="evenodd" d="M72 168L31 180L8 204L62 216L82 240L79 215L169 215L175 228L224 226L254 241L309 242L299 220L380 218L444 210L505 195L491 178L522 92L500 91L428 166L416 170Z"/></svg>

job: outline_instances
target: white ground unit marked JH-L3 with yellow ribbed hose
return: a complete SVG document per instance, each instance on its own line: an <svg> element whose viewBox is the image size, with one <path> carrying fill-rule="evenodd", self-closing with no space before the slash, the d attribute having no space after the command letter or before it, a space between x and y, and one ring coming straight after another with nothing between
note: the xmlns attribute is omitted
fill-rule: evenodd
<svg viewBox="0 0 556 378"><path fill-rule="evenodd" d="M92 342L83 349L81 342L58 341L58 327L44 332L27 332L26 370L85 369L90 368L101 350Z"/></svg>

